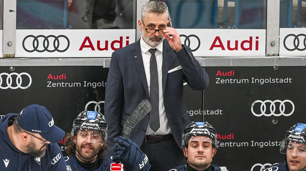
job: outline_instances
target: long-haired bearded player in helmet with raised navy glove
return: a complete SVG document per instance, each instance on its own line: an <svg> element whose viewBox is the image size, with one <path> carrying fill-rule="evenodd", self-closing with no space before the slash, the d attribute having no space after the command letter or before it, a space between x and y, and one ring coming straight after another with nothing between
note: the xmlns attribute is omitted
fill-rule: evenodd
<svg viewBox="0 0 306 171"><path fill-rule="evenodd" d="M83 111L73 121L71 134L66 134L66 168L70 171L147 171L147 156L130 139L114 139L118 144L114 157L105 156L107 124L96 111ZM113 162L115 161L115 162ZM119 163L120 162L120 163ZM121 163L122 162L122 163Z"/></svg>

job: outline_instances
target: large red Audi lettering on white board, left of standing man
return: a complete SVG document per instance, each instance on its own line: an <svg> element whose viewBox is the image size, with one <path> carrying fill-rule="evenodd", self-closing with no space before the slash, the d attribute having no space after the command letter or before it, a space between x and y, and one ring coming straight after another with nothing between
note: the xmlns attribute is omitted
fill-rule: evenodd
<svg viewBox="0 0 306 171"><path fill-rule="evenodd" d="M110 42L110 48L112 50L117 50L123 47L123 37L120 36L119 40L114 40L113 42ZM125 46L129 45L129 36L126 36L125 40ZM94 44L91 42L91 39L89 36L86 36L83 40L82 45L80 46L79 50L83 50L83 48L90 48L91 50L108 50L109 42L108 40L105 40L105 43L101 42L100 40L97 40L97 43Z"/></svg>

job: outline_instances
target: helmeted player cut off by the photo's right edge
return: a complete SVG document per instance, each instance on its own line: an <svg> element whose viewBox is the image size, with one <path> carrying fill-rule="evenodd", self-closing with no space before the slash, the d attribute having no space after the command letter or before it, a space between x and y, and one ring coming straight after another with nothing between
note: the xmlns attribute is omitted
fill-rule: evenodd
<svg viewBox="0 0 306 171"><path fill-rule="evenodd" d="M280 153L285 162L266 167L263 171L305 171L306 170L306 124L296 123L287 130L282 140Z"/></svg>

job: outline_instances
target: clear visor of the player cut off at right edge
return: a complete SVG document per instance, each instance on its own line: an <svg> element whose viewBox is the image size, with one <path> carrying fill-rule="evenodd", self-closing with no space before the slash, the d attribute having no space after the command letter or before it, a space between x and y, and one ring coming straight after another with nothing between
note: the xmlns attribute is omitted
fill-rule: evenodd
<svg viewBox="0 0 306 171"><path fill-rule="evenodd" d="M306 157L306 144L282 140L279 152L285 155Z"/></svg>

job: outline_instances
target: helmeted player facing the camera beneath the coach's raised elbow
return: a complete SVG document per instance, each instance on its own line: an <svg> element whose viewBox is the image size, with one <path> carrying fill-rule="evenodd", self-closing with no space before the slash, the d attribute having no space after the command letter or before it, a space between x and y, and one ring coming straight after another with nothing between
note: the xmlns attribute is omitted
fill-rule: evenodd
<svg viewBox="0 0 306 171"><path fill-rule="evenodd" d="M228 171L212 164L217 152L216 130L208 122L192 122L184 130L182 144L186 164L169 171Z"/></svg>

